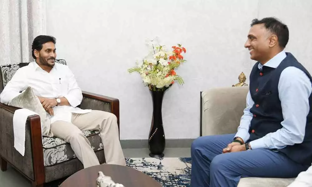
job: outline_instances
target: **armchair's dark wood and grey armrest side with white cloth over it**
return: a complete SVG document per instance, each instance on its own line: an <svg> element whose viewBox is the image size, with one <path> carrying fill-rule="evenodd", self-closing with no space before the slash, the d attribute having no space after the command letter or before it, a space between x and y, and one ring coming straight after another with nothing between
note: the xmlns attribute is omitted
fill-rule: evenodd
<svg viewBox="0 0 312 187"><path fill-rule="evenodd" d="M19 108L0 103L0 156L28 179L44 182L41 122L38 115L27 118L25 155L14 148L13 114Z"/></svg>

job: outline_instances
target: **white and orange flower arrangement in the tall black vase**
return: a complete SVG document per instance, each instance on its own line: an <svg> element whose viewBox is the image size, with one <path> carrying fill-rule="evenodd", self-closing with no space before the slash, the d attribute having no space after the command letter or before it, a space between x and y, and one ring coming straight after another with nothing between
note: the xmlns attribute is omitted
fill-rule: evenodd
<svg viewBox="0 0 312 187"><path fill-rule="evenodd" d="M172 46L172 51L167 51L165 46L155 44L154 41L150 42L149 47L151 50L149 55L143 58L143 63L128 69L128 72L138 72L144 85L152 91L165 91L175 81L183 84L182 77L176 74L175 69L186 61L182 56L186 49L178 44Z"/></svg>

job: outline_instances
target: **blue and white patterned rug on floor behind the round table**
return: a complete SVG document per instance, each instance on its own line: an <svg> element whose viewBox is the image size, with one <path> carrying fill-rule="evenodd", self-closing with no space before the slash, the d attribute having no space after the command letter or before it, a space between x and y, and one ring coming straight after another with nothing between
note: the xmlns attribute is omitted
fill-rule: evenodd
<svg viewBox="0 0 312 187"><path fill-rule="evenodd" d="M126 163L153 177L163 187L191 186L191 158L126 158Z"/></svg>

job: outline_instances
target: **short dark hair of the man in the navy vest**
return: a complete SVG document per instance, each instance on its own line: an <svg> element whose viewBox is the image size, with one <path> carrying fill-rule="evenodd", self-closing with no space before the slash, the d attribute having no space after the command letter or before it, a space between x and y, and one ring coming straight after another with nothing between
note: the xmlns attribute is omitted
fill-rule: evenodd
<svg viewBox="0 0 312 187"><path fill-rule="evenodd" d="M250 26L263 23L267 30L275 34L278 38L278 43L281 48L285 48L289 39L289 31L287 25L280 22L280 20L275 17L266 17L261 20L254 19L251 22Z"/></svg>

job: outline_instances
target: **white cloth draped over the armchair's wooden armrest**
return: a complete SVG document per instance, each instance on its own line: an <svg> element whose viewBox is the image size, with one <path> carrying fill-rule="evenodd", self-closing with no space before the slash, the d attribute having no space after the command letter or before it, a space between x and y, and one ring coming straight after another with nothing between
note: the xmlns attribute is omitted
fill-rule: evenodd
<svg viewBox="0 0 312 187"><path fill-rule="evenodd" d="M14 148L21 153L22 156L25 155L25 131L27 117L35 114L37 113L26 108L21 108L16 110L13 115Z"/></svg>

